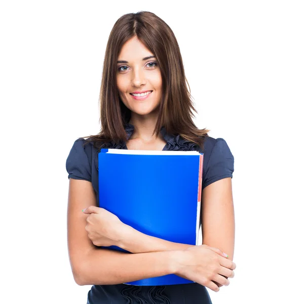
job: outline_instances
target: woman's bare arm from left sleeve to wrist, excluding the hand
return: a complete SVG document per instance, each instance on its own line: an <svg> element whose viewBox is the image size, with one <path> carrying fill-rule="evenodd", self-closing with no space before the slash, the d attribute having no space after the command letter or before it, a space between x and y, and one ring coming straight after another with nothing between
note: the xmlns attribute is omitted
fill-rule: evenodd
<svg viewBox="0 0 304 304"><path fill-rule="evenodd" d="M174 251L130 254L96 247L85 226L87 216L81 211L96 206L92 183L69 179L67 242L71 269L78 285L120 284L172 274Z"/></svg>

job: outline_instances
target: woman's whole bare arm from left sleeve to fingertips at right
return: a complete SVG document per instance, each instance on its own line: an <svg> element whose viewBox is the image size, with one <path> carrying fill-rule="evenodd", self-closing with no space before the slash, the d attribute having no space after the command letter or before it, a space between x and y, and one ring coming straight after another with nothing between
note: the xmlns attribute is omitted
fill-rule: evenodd
<svg viewBox="0 0 304 304"><path fill-rule="evenodd" d="M87 235L87 216L81 211L96 206L92 183L70 178L67 208L67 241L71 269L78 285L112 285L168 274L193 280L214 291L216 281L228 285L235 263L207 245L186 250L126 253L96 247Z"/></svg>

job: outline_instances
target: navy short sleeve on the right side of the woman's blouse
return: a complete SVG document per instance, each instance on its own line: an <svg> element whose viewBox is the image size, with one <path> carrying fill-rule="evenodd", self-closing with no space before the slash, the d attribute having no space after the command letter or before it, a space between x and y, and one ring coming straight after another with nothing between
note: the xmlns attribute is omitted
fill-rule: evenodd
<svg viewBox="0 0 304 304"><path fill-rule="evenodd" d="M229 146L222 138L215 140L214 146L203 174L203 188L226 177L232 177L234 157Z"/></svg>

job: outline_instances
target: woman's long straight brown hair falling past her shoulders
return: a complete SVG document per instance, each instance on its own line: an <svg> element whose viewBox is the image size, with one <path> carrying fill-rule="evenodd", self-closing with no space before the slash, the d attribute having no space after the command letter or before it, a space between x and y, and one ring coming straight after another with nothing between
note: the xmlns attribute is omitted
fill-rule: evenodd
<svg viewBox="0 0 304 304"><path fill-rule="evenodd" d="M198 129L192 120L192 111L197 113L197 110L193 105L176 37L161 18L143 11L123 15L110 32L99 95L101 130L87 140L97 147L104 142L119 143L127 140L124 126L131 118L131 110L119 96L116 81L117 60L123 45L134 36L154 54L162 75L163 92L153 134L159 135L164 126L168 134L179 134L185 140L203 147L209 130Z"/></svg>

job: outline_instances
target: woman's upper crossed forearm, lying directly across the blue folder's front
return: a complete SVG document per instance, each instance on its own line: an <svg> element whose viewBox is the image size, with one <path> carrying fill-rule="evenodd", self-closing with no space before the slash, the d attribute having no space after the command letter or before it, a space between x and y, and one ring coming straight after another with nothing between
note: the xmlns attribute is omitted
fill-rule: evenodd
<svg viewBox="0 0 304 304"><path fill-rule="evenodd" d="M174 243L160 238L151 237L135 230L131 226L126 225L123 237L118 246L132 253L144 253L183 250L195 245Z"/></svg>

